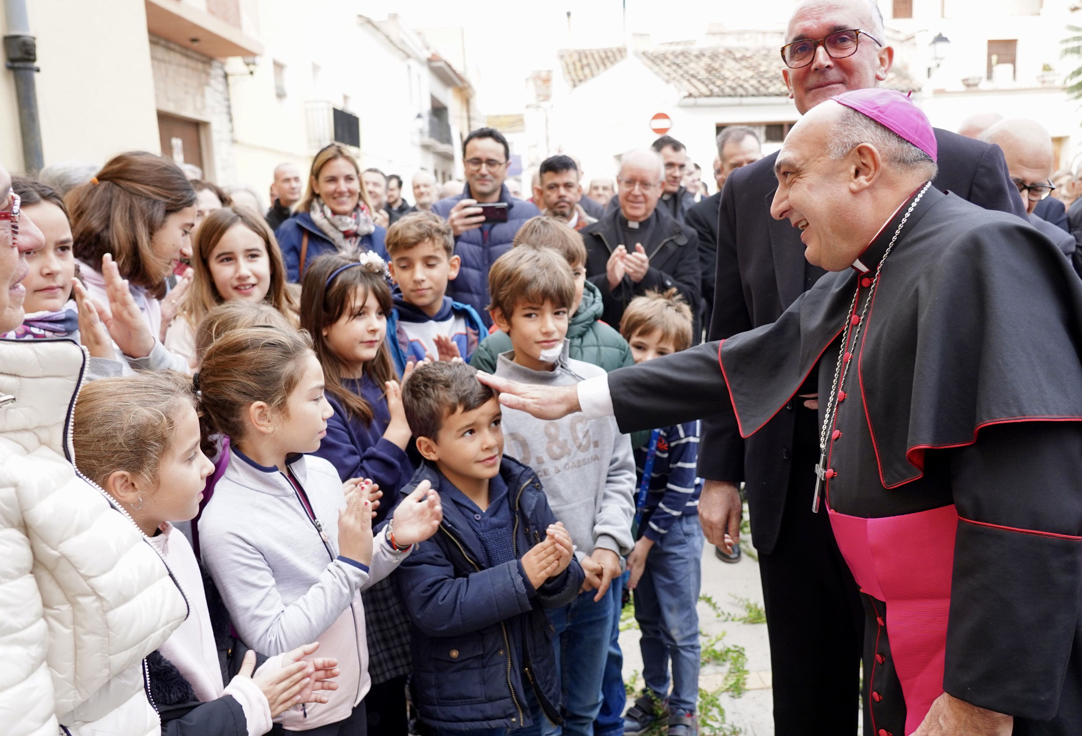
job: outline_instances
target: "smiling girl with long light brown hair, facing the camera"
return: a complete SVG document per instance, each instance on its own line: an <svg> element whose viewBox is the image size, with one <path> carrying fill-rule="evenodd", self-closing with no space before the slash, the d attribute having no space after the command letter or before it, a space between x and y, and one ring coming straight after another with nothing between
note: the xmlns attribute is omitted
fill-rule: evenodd
<svg viewBox="0 0 1082 736"><path fill-rule="evenodd" d="M195 369L196 328L223 302L268 303L296 324L296 301L286 284L286 267L274 233L263 218L243 207L214 210L195 235L195 280L166 333L166 347Z"/></svg>

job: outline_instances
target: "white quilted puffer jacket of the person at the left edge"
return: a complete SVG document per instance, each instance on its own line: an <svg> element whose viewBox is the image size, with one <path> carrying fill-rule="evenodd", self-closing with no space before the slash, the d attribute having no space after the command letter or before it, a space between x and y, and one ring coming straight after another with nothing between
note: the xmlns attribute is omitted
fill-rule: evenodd
<svg viewBox="0 0 1082 736"><path fill-rule="evenodd" d="M140 530L71 465L85 353L0 341L0 724L4 736L153 736L143 658L187 615Z"/></svg>

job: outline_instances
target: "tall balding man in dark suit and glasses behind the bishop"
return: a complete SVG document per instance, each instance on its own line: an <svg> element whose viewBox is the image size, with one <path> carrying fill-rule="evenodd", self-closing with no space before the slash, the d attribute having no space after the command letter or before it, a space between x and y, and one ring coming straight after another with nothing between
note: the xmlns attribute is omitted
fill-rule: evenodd
<svg viewBox="0 0 1082 736"><path fill-rule="evenodd" d="M831 37L842 30L859 30L852 55L840 50L841 44L831 44ZM882 15L870 0L837 0L827 10L822 3L801 2L786 41L816 44L806 66L782 69L802 114L844 91L876 87L894 61L894 50L885 45ZM942 130L936 131L936 188L1025 216L999 148ZM776 158L744 167L725 183L711 340L774 323L823 274L805 261L800 232L770 216ZM699 515L711 543L737 542L737 486L745 484L769 627L778 736L852 735L858 722L865 613L827 514L810 509L819 456L815 386L812 376L747 441L729 412L703 422L700 443L699 474L707 483Z"/></svg>

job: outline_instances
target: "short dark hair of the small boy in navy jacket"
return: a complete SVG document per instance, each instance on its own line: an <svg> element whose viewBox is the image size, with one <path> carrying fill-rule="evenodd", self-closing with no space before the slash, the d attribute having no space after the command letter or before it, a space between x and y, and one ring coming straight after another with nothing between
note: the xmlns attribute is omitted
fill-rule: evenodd
<svg viewBox="0 0 1082 736"><path fill-rule="evenodd" d="M413 436L436 442L448 417L473 411L496 396L470 364L437 360L418 367L403 385L403 408Z"/></svg>

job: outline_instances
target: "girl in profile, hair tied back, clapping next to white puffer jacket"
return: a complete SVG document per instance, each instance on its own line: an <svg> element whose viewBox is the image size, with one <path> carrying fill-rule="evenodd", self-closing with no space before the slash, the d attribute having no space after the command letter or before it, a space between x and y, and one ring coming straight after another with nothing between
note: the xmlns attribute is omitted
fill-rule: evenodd
<svg viewBox="0 0 1082 736"><path fill-rule="evenodd" d="M175 736L260 736L272 718L300 702L327 702L313 691L334 689L334 659L307 657L306 644L254 670L245 656L237 676L223 674L202 575L192 547L170 520L199 511L214 465L200 451L192 379L174 371L95 381L83 387L74 416L78 469L128 513L169 564L189 615L147 657L149 691L162 732Z"/></svg>

